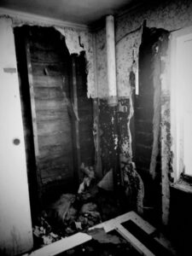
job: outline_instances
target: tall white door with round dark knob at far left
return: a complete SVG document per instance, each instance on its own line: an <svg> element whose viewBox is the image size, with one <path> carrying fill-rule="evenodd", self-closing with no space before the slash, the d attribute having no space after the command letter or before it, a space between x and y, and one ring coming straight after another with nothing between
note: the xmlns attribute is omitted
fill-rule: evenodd
<svg viewBox="0 0 192 256"><path fill-rule="evenodd" d="M32 248L26 154L10 19L0 18L0 254Z"/></svg>

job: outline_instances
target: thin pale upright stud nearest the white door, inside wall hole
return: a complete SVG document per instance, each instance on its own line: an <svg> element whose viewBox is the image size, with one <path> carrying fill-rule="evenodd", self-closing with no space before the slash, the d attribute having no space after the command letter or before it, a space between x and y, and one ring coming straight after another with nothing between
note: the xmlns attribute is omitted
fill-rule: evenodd
<svg viewBox="0 0 192 256"><path fill-rule="evenodd" d="M41 198L41 174L38 170L38 156L39 156L39 148L38 148L38 126L37 126L37 117L36 117L36 105L34 99L34 88L33 88L33 80L32 80L32 63L31 63L31 54L30 54L30 44L26 39L26 64L27 64L27 73L28 73L28 82L29 82L29 92L30 92L30 101L31 101L31 109L32 109L32 130L33 130L33 142L34 142L34 152L36 158L36 173L37 173L37 181L38 181L38 196Z"/></svg>

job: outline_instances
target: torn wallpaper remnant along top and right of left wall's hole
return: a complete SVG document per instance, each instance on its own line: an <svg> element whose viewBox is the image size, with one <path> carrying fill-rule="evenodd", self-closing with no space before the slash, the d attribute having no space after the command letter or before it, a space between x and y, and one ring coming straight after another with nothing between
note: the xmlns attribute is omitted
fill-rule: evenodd
<svg viewBox="0 0 192 256"><path fill-rule="evenodd" d="M51 24L38 23L26 20L20 20L19 17L12 18L13 26L54 26ZM75 29L73 27L54 26L55 29L66 38L67 49L70 54L80 54L85 51L87 61L87 96L96 98L97 89L95 86L95 69L94 69L94 51L92 34L85 29Z"/></svg>

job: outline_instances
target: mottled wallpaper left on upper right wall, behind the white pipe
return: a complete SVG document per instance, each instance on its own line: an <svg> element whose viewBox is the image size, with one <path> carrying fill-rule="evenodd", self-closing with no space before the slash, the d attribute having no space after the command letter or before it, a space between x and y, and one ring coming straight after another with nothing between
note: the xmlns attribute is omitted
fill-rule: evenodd
<svg viewBox="0 0 192 256"><path fill-rule="evenodd" d="M148 27L167 31L192 26L192 2L190 0L164 1L145 5L143 8L116 19L116 68L119 96L130 96L129 73L137 70L140 27L147 20ZM96 34L97 79L99 97L108 96L105 29Z"/></svg>

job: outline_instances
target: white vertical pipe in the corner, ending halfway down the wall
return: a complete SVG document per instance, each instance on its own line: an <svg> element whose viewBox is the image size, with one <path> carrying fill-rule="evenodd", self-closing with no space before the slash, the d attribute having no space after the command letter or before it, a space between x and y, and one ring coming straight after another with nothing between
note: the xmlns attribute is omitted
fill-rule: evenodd
<svg viewBox="0 0 192 256"><path fill-rule="evenodd" d="M107 64L108 64L108 105L117 105L116 63L114 44L114 18L113 15L106 17L106 41L107 41Z"/></svg>

